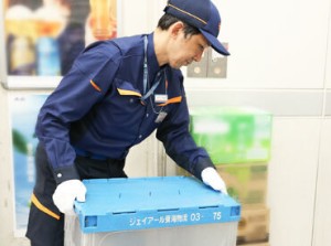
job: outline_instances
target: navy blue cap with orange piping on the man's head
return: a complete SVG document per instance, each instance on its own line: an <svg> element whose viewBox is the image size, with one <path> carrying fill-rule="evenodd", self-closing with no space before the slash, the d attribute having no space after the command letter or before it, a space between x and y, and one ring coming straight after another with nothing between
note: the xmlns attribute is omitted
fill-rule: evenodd
<svg viewBox="0 0 331 246"><path fill-rule="evenodd" d="M164 12L195 26L216 52L229 55L217 40L221 15L211 0L169 0Z"/></svg>

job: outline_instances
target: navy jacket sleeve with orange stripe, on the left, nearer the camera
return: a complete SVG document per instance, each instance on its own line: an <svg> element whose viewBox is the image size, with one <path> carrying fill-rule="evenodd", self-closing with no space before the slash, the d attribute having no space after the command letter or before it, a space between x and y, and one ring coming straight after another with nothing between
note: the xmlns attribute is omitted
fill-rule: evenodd
<svg viewBox="0 0 331 246"><path fill-rule="evenodd" d="M100 44L82 53L39 113L35 135L46 151L56 183L78 179L76 153L70 142L71 124L104 97L117 71L118 65L104 50ZM111 54L109 49L107 54Z"/></svg>

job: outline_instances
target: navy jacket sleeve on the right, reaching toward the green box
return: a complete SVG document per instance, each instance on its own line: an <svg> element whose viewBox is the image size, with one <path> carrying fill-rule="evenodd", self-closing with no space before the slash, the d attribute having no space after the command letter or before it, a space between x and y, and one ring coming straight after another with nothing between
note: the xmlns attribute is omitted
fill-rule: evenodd
<svg viewBox="0 0 331 246"><path fill-rule="evenodd" d="M207 152L195 145L189 131L190 116L185 96L158 128L157 138L167 154L180 167L201 180L201 172L214 167Z"/></svg>

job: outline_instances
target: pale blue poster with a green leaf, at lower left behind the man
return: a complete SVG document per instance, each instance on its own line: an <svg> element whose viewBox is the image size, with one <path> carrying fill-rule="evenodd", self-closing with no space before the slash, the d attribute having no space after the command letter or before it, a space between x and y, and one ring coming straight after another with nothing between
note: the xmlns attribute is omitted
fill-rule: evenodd
<svg viewBox="0 0 331 246"><path fill-rule="evenodd" d="M38 139L34 127L38 113L47 95L29 94L10 97L12 132L14 232L23 236L28 225L30 199L35 181L34 152Z"/></svg>

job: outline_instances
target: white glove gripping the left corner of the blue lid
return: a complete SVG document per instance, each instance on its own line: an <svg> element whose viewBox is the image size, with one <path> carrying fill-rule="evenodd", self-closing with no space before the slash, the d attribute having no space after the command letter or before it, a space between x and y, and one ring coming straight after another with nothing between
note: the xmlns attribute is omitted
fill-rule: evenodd
<svg viewBox="0 0 331 246"><path fill-rule="evenodd" d="M54 204L62 213L72 213L74 202L85 202L86 188L81 180L67 180L58 184L53 194Z"/></svg>

